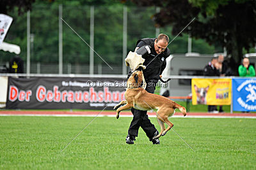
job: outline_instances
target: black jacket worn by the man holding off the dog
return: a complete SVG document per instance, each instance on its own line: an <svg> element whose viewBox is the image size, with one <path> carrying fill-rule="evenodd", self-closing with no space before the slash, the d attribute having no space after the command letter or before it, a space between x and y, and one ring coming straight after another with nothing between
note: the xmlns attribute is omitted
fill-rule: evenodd
<svg viewBox="0 0 256 170"><path fill-rule="evenodd" d="M151 53L147 53L146 55L142 56L143 59L145 59L143 65L147 66L146 69L143 69L143 74L147 82L152 80L156 83L159 80L159 76L163 73L164 68L166 67L166 58L170 56L170 50L166 48L164 52L157 55L156 50L154 48L155 39L156 38L140 39L137 41L136 47L140 48L144 45L150 45ZM131 76L131 70L129 71L128 78L129 76Z"/></svg>

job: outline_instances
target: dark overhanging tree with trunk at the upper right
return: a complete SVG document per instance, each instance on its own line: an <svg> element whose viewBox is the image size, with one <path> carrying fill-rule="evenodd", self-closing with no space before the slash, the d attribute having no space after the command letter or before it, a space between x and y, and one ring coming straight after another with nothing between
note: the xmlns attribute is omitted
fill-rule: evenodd
<svg viewBox="0 0 256 170"><path fill-rule="evenodd" d="M173 25L173 34L179 33L194 17L196 20L185 29L194 38L202 38L210 45L216 43L227 48L231 66L237 66L243 49L249 52L256 44L255 0L133 0L139 6L161 6L154 15L156 26ZM182 36L182 34L181 34Z"/></svg>

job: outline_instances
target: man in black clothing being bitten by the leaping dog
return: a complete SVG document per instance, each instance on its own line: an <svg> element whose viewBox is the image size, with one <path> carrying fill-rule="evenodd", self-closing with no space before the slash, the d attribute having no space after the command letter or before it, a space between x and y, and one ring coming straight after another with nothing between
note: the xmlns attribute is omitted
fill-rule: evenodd
<svg viewBox="0 0 256 170"><path fill-rule="evenodd" d="M170 50L167 48L168 42L168 36L159 34L157 38L143 38L139 39L136 43L135 52L142 55L143 59L145 59L143 65L147 66L146 69L143 69L144 78L147 83L145 90L152 94L156 89L157 81L166 67L166 58L170 56ZM131 74L130 69L127 78ZM135 138L138 136L138 130L141 127L153 144L160 144L159 139L153 139L159 132L150 122L147 111L136 110L134 108L131 111L133 118L128 130L126 143L134 144Z"/></svg>

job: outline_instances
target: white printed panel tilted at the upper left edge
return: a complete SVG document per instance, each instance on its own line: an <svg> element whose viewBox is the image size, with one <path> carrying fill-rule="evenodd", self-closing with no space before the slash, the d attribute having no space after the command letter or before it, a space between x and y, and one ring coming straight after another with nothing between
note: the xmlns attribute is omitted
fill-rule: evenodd
<svg viewBox="0 0 256 170"><path fill-rule="evenodd" d="M4 41L4 37L12 24L12 17L4 14L0 14L0 45Z"/></svg>

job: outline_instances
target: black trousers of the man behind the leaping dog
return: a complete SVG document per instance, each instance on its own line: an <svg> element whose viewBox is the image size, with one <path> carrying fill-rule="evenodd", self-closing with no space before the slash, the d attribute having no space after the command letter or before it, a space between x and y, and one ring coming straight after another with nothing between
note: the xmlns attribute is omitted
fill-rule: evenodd
<svg viewBox="0 0 256 170"><path fill-rule="evenodd" d="M155 83L154 84L147 83L147 87L145 90L153 94L155 89L156 89ZM156 130L156 127L153 124L151 124L147 115L147 111L136 110L134 108L132 108L131 111L132 111L133 118L128 130L128 134L130 136L138 136L138 131L139 131L139 128L141 127L143 131L145 131L145 133L147 134L148 138L152 139L154 136L154 133L157 130Z"/></svg>

